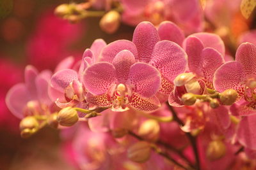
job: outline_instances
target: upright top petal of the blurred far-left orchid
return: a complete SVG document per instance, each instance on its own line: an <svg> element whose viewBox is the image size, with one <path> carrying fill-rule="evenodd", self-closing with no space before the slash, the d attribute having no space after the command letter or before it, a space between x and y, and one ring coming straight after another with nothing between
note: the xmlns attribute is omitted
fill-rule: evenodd
<svg viewBox="0 0 256 170"><path fill-rule="evenodd" d="M38 75L38 71L33 66L26 66L25 68L25 85L27 89L29 89L29 94L33 99L36 99L36 76ZM28 94L27 94L28 95Z"/></svg>

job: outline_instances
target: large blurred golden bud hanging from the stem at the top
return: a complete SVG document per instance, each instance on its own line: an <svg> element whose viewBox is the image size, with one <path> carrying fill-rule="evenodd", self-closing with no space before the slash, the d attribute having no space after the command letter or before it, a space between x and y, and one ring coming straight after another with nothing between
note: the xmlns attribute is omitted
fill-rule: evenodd
<svg viewBox="0 0 256 170"><path fill-rule="evenodd" d="M102 31L112 34L120 25L120 13L117 11L109 11L100 20L100 28Z"/></svg>

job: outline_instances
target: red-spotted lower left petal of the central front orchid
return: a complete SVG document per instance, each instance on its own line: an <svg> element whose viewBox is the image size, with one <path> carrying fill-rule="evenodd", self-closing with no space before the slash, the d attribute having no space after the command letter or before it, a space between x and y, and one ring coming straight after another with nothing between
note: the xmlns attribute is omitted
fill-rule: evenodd
<svg viewBox="0 0 256 170"><path fill-rule="evenodd" d="M95 106L99 106L102 108L107 108L112 106L112 103L108 100L108 94L102 94L99 96L93 96L92 94L86 95L86 99L88 103L91 103Z"/></svg>

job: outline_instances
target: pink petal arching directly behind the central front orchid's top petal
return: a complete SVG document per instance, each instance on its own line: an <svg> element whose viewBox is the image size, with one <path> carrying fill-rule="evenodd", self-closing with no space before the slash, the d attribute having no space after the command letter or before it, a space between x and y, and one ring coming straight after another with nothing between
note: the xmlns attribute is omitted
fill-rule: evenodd
<svg viewBox="0 0 256 170"><path fill-rule="evenodd" d="M122 50L129 50L131 53L133 53L135 59L138 59L138 52L134 43L122 39L109 43L107 46L105 46L102 50L100 61L112 62L116 54Z"/></svg>

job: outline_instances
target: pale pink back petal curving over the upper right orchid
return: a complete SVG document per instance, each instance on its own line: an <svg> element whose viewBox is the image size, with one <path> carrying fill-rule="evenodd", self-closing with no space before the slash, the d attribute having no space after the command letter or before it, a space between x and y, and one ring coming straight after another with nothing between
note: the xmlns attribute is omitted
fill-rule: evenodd
<svg viewBox="0 0 256 170"><path fill-rule="evenodd" d="M209 32L199 32L192 34L192 36L196 36L197 38L199 38L203 42L205 48L212 47L220 52L222 56L225 55L225 45L220 36L218 36L217 34L212 34Z"/></svg>

